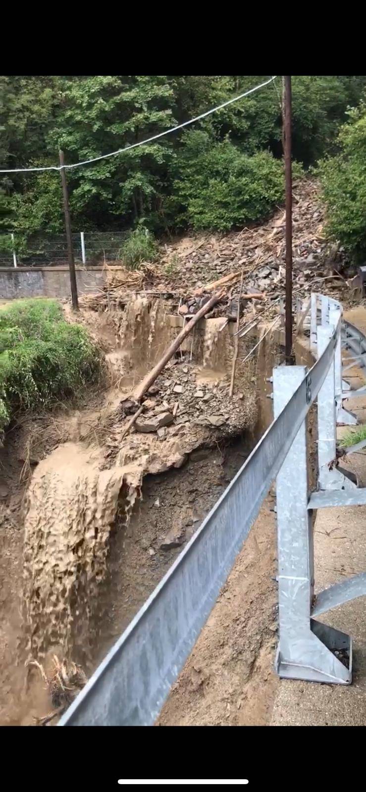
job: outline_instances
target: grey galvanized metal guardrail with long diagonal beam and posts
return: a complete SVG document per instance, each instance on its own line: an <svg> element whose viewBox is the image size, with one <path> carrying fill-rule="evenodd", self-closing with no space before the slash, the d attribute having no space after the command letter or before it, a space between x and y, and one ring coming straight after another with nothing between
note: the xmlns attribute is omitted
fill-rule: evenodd
<svg viewBox="0 0 366 792"><path fill-rule="evenodd" d="M312 618L324 610L324 602L334 607L366 593L364 574L314 597L311 497L325 495L324 505L333 505L335 496L337 505L342 493L364 502L364 490L334 466L336 414L352 419L341 405L347 384L341 378L341 306L323 295L311 298L311 345L318 360L310 371L303 366L273 370L273 423L59 725L154 724L275 478L276 670L283 677L350 682L351 639ZM309 497L306 418L316 398L318 492Z"/></svg>

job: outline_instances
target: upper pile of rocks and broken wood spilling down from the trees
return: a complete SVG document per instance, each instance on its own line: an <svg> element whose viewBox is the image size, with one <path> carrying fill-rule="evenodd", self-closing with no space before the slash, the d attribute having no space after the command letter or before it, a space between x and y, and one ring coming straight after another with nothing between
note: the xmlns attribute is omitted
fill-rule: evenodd
<svg viewBox="0 0 366 792"><path fill-rule="evenodd" d="M307 179L297 182L293 190L293 271L294 295L299 297L320 290L324 280L326 291L339 291L345 285L341 252L326 241L323 222L318 185ZM158 265L143 264L132 272L107 267L105 286L97 294L82 296L82 307L123 307L131 291L140 290L171 299L173 309L189 318L219 289L223 294L209 316L234 321L243 273L240 313L259 310L274 315L273 308L278 310L284 297L284 223L284 211L279 209L267 223L239 232L185 237L164 245Z"/></svg>

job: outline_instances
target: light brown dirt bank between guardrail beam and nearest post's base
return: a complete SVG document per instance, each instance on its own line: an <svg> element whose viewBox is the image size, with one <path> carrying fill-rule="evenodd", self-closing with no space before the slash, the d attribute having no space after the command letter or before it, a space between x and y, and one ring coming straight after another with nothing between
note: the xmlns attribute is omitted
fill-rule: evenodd
<svg viewBox="0 0 366 792"><path fill-rule="evenodd" d="M277 687L273 503L261 508L157 725L269 722Z"/></svg>

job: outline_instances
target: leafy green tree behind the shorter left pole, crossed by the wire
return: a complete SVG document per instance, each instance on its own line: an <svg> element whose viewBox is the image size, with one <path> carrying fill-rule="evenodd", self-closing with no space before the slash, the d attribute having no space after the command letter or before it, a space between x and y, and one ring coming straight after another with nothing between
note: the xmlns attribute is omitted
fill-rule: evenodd
<svg viewBox="0 0 366 792"><path fill-rule="evenodd" d="M48 146L68 162L124 148L175 124L166 77L85 77L67 83ZM165 141L68 172L74 221L125 226L158 211L172 147Z"/></svg>

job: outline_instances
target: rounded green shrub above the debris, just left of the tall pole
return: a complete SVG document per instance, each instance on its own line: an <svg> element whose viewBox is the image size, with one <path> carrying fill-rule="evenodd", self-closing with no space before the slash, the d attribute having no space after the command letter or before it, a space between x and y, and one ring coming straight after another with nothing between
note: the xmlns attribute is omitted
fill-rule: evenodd
<svg viewBox="0 0 366 792"><path fill-rule="evenodd" d="M195 230L229 230L269 214L284 197L284 169L267 151L243 154L228 139L187 135L175 189Z"/></svg>

